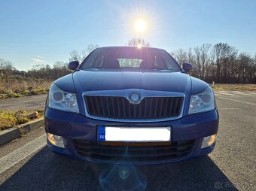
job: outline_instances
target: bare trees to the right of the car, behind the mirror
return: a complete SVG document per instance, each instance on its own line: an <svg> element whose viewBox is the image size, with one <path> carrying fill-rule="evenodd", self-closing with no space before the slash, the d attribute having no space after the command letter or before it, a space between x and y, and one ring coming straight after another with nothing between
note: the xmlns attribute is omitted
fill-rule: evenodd
<svg viewBox="0 0 256 191"><path fill-rule="evenodd" d="M227 43L203 44L188 50L178 49L171 55L180 63L194 66L191 75L212 83L256 83L256 53L239 53Z"/></svg>

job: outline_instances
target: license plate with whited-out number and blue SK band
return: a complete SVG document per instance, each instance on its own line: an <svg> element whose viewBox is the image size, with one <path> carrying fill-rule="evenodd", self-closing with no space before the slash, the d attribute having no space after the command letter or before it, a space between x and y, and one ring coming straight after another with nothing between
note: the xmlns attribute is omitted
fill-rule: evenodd
<svg viewBox="0 0 256 191"><path fill-rule="evenodd" d="M170 127L98 126L98 141L164 142L171 141Z"/></svg>

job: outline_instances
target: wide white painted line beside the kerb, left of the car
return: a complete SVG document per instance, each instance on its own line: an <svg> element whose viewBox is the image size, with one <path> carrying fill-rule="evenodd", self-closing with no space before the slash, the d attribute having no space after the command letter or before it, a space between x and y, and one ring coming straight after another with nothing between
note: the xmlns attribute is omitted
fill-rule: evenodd
<svg viewBox="0 0 256 191"><path fill-rule="evenodd" d="M0 174L46 145L46 135L41 135L0 159Z"/></svg>

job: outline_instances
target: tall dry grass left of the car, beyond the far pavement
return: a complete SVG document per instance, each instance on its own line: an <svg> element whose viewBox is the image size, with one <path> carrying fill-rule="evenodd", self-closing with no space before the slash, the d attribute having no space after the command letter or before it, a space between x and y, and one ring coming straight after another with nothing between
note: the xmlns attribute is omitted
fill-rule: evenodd
<svg viewBox="0 0 256 191"><path fill-rule="evenodd" d="M12 77L7 84L0 81L0 99L45 94L51 83L44 79Z"/></svg>

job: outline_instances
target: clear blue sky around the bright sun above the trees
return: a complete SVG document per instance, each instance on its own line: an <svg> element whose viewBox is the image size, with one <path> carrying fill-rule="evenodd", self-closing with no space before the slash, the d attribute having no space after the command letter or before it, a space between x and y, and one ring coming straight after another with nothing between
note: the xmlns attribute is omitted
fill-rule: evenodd
<svg viewBox="0 0 256 191"><path fill-rule="evenodd" d="M88 44L124 46L131 38L167 51L224 42L254 55L255 8L254 0L0 0L0 59L27 71L67 62Z"/></svg>

